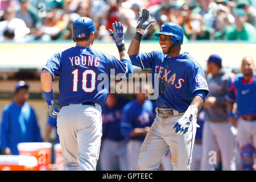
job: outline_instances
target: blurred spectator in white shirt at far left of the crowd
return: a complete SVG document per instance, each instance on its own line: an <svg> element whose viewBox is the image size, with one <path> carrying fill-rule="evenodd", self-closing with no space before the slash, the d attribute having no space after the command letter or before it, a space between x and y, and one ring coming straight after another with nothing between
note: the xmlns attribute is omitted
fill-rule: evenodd
<svg viewBox="0 0 256 182"><path fill-rule="evenodd" d="M14 31L14 40L16 42L24 42L26 40L25 36L30 31L27 28L26 23L19 18L15 18L16 11L12 6L6 6L3 13L4 21L0 22L0 41L4 39L3 32L7 29Z"/></svg>

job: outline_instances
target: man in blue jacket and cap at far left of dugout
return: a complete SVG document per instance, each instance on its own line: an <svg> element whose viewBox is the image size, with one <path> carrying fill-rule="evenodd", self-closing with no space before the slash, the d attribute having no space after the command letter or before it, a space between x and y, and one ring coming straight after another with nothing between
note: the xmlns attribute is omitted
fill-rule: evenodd
<svg viewBox="0 0 256 182"><path fill-rule="evenodd" d="M3 109L1 148L5 155L18 155L20 142L42 142L35 111L26 102L28 85L24 81L15 86L14 101Z"/></svg>

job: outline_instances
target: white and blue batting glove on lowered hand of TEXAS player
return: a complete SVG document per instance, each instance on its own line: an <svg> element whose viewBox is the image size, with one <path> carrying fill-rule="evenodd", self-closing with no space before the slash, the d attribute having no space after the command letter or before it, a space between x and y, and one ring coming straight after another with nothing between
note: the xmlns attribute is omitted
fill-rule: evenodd
<svg viewBox="0 0 256 182"><path fill-rule="evenodd" d="M198 109L196 106L190 105L188 109L185 111L183 116L175 123L174 129L177 134L185 134L188 131L188 127L191 122L196 121L196 114ZM200 127L196 124L197 127Z"/></svg>

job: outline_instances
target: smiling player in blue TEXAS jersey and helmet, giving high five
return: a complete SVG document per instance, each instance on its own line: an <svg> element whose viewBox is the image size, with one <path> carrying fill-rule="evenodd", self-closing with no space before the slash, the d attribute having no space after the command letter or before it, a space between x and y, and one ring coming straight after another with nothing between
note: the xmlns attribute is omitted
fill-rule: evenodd
<svg viewBox="0 0 256 182"><path fill-rule="evenodd" d="M159 36L162 51L139 53L141 38L148 26L149 12L139 13L136 33L128 54L133 65L152 69L156 98L156 118L141 147L138 170L153 170L168 149L174 170L189 170L196 134L196 114L209 93L203 69L191 55L181 51L183 29L164 23ZM154 85L157 77L159 84Z"/></svg>

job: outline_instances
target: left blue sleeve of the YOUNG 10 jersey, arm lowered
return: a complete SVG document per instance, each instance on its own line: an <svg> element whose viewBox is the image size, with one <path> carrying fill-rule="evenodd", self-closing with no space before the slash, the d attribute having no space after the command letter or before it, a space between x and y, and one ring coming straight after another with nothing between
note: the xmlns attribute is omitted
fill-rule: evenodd
<svg viewBox="0 0 256 182"><path fill-rule="evenodd" d="M49 73L52 75L52 80L54 77L60 76L60 59L61 53L55 53L48 61L47 64L43 67L43 69L47 69Z"/></svg>

